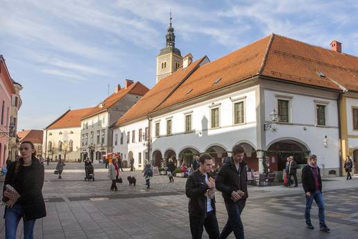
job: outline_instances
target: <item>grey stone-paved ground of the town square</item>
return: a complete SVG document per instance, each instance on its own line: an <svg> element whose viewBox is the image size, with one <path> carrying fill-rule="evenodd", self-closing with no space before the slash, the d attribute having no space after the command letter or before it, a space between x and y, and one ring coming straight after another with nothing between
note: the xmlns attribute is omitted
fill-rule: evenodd
<svg viewBox="0 0 358 239"><path fill-rule="evenodd" d="M128 175L137 178L137 186L128 185ZM154 176L151 189L146 190L141 172L123 172L121 176L119 191L112 192L105 172L86 182L84 172L64 171L62 179L46 173L43 193L47 216L37 220L35 238L191 238L184 195L186 179L174 178L175 183L168 183L166 176ZM323 188L330 233L318 231L316 206L312 208L316 229L305 228L302 188L250 186L242 215L246 238L357 238L358 179L327 179ZM219 193L216 199L222 229L227 214ZM3 213L3 207L0 210ZM4 238L2 218L0 225L0 238ZM18 238L21 231L22 223ZM206 233L203 238L207 238Z"/></svg>

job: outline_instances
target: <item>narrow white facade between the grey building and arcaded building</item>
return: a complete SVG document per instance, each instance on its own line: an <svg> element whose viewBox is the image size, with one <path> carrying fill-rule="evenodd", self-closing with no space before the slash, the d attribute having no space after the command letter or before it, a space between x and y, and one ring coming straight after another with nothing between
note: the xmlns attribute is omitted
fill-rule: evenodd
<svg viewBox="0 0 358 239"><path fill-rule="evenodd" d="M143 169L144 162L146 160L145 153L148 152L146 142L142 138L142 142L139 142L139 129L142 129L142 133L145 133L145 129L148 127L148 119L144 119L133 124L121 126L113 131L113 151L119 152L123 156L123 160L127 160L129 167L128 152L133 152L134 165L136 169ZM135 131L135 142L132 142L132 131ZM130 132L129 144L127 144L127 132ZM121 133L123 133L123 145L121 145ZM115 145L115 135L118 135L118 142ZM139 163L139 152L142 153L142 162Z"/></svg>

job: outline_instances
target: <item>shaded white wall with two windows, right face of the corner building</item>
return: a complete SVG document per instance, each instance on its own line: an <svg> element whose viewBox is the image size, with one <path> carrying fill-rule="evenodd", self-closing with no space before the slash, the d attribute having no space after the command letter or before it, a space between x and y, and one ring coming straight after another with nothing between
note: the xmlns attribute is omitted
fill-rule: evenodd
<svg viewBox="0 0 358 239"><path fill-rule="evenodd" d="M266 122L271 121L270 113L273 108L278 110L277 98L282 96L291 97L290 124L278 124L277 133L266 131L266 147L276 140L284 138L293 139L307 145L311 154L318 156L318 164L324 164L325 168L338 168L339 124L337 101L335 99L327 99L326 97L293 94L278 90L264 90L264 117ZM325 101L327 103L325 127L316 126L315 101ZM326 135L327 147L323 144Z"/></svg>

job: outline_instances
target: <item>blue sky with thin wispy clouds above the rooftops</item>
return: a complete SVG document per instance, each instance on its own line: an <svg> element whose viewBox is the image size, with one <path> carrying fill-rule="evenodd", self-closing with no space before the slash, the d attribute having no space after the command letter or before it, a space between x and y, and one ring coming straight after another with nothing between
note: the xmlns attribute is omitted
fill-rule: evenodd
<svg viewBox="0 0 358 239"><path fill-rule="evenodd" d="M358 56L358 1L0 0L0 54L22 84L18 130L99 104L125 79L155 84L172 12L176 47L215 60L271 33Z"/></svg>

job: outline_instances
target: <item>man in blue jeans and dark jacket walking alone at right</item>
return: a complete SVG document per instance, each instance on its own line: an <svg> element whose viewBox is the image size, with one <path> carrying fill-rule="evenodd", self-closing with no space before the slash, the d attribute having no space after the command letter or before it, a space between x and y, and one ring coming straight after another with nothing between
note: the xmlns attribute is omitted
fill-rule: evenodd
<svg viewBox="0 0 358 239"><path fill-rule="evenodd" d="M305 220L307 228L314 229L311 223L312 202L316 201L318 206L319 229L329 232L330 229L325 224L325 204L322 195L321 170L317 166L317 156L311 155L308 164L302 169L302 186L306 195Z"/></svg>

